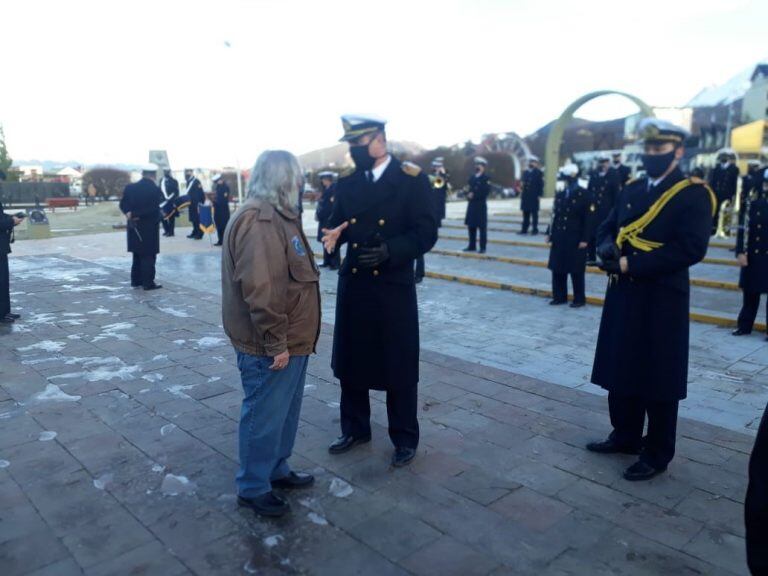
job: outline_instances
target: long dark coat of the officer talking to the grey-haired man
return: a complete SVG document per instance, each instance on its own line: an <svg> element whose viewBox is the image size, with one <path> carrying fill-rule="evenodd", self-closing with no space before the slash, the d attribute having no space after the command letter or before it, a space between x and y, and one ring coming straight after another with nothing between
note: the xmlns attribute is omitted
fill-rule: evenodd
<svg viewBox="0 0 768 576"><path fill-rule="evenodd" d="M332 366L344 386L391 390L418 382L413 266L437 241L437 223L428 178L412 174L392 158L377 182L356 171L336 186L328 227L348 227L340 238L347 252L339 269ZM389 259L361 267L360 249L382 241Z"/></svg>

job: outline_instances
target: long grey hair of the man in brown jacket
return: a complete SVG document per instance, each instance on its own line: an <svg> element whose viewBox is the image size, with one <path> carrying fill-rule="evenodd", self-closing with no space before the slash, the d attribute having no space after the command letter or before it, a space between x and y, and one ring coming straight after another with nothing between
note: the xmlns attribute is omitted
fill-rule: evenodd
<svg viewBox="0 0 768 576"><path fill-rule="evenodd" d="M299 190L304 185L296 156L285 150L267 150L256 160L248 181L248 198L269 202L294 212L299 205Z"/></svg>

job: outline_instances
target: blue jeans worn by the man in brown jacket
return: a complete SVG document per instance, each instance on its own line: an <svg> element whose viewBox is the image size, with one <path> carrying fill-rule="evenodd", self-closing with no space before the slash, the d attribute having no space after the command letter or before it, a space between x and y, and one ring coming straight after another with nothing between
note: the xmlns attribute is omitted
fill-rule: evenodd
<svg viewBox="0 0 768 576"><path fill-rule="evenodd" d="M272 490L271 481L291 473L288 458L296 440L309 356L291 356L282 370L272 358L237 352L243 383L240 412L240 470L237 492L255 498Z"/></svg>

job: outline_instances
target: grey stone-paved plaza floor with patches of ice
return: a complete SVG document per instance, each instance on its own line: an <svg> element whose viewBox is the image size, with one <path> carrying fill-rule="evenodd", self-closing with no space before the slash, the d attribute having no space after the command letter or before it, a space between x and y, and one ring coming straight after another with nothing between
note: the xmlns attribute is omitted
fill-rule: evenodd
<svg viewBox="0 0 768 576"><path fill-rule="evenodd" d="M25 319L0 335L4 575L746 573L761 340L707 352L727 333L692 326L698 411L681 422L669 473L630 484L629 457L582 448L608 431L604 398L584 381L599 309L554 316L540 298L427 280L418 459L388 467L378 395L374 442L328 455L339 389L327 325L293 460L318 484L290 496L290 517L263 521L234 501L241 392L217 253L164 256L166 288L146 294L128 287L121 237L108 236L117 248L91 261L12 260ZM201 263L195 288L174 283ZM333 291L326 274L326 321ZM698 385L720 373L742 376ZM726 394L749 399L732 412Z"/></svg>

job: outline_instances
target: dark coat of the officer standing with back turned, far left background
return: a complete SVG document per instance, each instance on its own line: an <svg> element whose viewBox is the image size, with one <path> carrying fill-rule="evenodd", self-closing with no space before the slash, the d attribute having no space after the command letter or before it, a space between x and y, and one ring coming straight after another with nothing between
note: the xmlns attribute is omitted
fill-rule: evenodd
<svg viewBox="0 0 768 576"><path fill-rule="evenodd" d="M160 252L160 204L165 198L149 178L128 184L120 200L120 211L131 213L128 222L128 252L151 256Z"/></svg>

